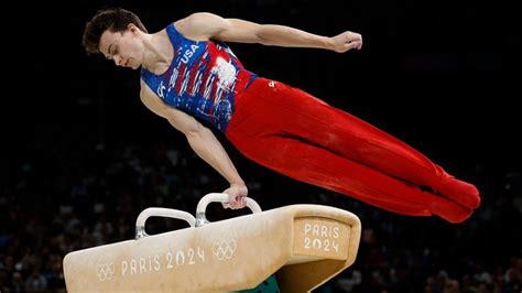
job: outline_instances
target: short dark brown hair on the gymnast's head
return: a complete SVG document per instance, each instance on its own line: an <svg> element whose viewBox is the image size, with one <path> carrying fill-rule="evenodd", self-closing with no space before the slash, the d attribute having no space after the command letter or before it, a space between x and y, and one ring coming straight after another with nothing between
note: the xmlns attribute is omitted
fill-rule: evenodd
<svg viewBox="0 0 522 293"><path fill-rule="evenodd" d="M100 53L99 45L101 34L110 32L124 32L128 25L133 23L141 31L146 33L146 29L137 14L122 8L111 8L98 11L85 25L83 45L87 54Z"/></svg>

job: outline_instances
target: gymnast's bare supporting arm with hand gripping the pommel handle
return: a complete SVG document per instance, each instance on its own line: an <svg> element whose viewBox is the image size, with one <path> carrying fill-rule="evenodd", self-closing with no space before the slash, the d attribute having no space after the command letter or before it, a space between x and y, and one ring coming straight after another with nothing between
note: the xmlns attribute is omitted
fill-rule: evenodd
<svg viewBox="0 0 522 293"><path fill-rule="evenodd" d="M244 207L247 186L214 133L194 117L163 104L143 80L141 80L140 96L142 102L151 111L167 119L175 129L185 134L194 152L230 183L230 187L225 191L230 197L229 206L231 208Z"/></svg>

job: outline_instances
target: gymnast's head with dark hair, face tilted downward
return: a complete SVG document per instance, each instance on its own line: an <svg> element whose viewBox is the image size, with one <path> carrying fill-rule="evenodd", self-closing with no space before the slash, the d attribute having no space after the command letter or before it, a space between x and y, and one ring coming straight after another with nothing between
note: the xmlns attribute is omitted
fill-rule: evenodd
<svg viewBox="0 0 522 293"><path fill-rule="evenodd" d="M146 33L137 14L121 8L106 9L85 25L83 45L87 54L102 54L118 66L137 69L142 64Z"/></svg>

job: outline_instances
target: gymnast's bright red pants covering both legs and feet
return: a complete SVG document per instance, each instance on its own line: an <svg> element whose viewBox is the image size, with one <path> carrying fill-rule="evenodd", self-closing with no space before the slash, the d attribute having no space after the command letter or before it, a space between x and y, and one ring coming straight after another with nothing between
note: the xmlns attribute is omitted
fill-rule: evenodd
<svg viewBox="0 0 522 293"><path fill-rule="evenodd" d="M226 137L261 165L399 214L460 223L480 204L474 185L404 142L279 82L236 96Z"/></svg>

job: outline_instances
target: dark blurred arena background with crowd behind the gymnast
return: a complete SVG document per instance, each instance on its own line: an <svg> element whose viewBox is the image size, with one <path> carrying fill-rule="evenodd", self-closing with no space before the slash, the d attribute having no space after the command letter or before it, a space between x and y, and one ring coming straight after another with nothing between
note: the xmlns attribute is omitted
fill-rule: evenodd
<svg viewBox="0 0 522 293"><path fill-rule="evenodd" d="M263 209L340 207L362 223L356 262L316 292L522 290L521 33L515 1L72 1L28 4L2 28L0 292L65 292L70 251L133 238L150 206L194 213L227 182L139 98L139 72L81 46L85 23L122 7L150 32L193 12L284 24L333 36L338 54L229 45L260 76L302 88L398 137L476 184L481 206L463 224L406 217L293 181L226 142ZM519 23L519 25L516 24ZM7 82L6 82L7 80ZM248 211L209 211L211 220ZM157 234L183 226L151 219Z"/></svg>

